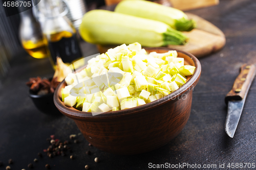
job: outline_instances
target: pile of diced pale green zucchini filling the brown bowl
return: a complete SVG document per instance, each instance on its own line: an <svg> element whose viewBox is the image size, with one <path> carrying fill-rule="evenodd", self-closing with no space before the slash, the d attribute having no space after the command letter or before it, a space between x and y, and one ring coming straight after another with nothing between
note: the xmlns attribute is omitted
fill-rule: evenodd
<svg viewBox="0 0 256 170"><path fill-rule="evenodd" d="M176 51L147 54L137 42L122 44L90 59L80 72L69 74L62 101L84 112L129 109L177 90L195 68L184 65Z"/></svg>

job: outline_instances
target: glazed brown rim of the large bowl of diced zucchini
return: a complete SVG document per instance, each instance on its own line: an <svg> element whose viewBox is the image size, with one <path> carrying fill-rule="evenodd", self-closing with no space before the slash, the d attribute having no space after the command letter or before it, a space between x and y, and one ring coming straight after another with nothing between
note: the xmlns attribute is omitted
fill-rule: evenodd
<svg viewBox="0 0 256 170"><path fill-rule="evenodd" d="M185 55L187 55L188 57L190 57L196 66L195 72L193 74L193 76L191 76L191 78L183 85L181 86L179 89L175 90L174 92L166 95L168 96L166 98L160 98L156 101L141 105L141 106L137 106L134 108L130 108L130 109L124 109L124 110L118 110L118 111L110 111L110 112L104 112L98 115L92 115L91 112L82 112L79 111L77 109L71 109L70 107L65 106L62 101L59 99L59 90L61 90L61 86L63 83L65 83L65 80L63 80L61 83L59 83L59 85L57 86L57 88L54 91L54 104L56 105L56 107L59 109L60 112L62 112L62 114L65 114L68 117L71 117L73 119L81 119L81 118L87 118L87 119L100 119L100 118L114 118L114 117L120 117L122 115L127 115L127 114L135 114L137 112L141 112L141 111L146 111L149 109L152 109L154 107L160 106L164 103L167 103L169 101L172 101L174 99L177 98L177 96L182 95L184 92L186 92L187 90L190 89L190 87L192 85L194 85L200 78L201 75L201 64L200 61L192 54L188 53L188 52L184 52L182 50L177 50L175 48L167 48L167 47L147 47L144 48L146 51L147 50L176 50L179 53L183 53Z"/></svg>

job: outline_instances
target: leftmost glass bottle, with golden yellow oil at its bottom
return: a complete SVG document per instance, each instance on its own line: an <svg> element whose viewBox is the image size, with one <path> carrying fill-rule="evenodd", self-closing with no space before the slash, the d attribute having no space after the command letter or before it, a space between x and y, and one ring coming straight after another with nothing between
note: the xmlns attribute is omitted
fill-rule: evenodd
<svg viewBox="0 0 256 170"><path fill-rule="evenodd" d="M18 9L22 10L22 6ZM32 8L20 12L19 38L23 48L34 58L46 58L48 53L39 22L33 15Z"/></svg>

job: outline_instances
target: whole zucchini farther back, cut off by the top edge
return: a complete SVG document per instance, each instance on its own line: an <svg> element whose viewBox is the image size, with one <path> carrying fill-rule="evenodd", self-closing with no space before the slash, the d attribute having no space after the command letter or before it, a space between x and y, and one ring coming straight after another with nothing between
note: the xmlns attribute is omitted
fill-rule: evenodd
<svg viewBox="0 0 256 170"><path fill-rule="evenodd" d="M121 1L115 12L158 20L178 31L191 31L196 27L195 20L188 20L184 12L149 1Z"/></svg>

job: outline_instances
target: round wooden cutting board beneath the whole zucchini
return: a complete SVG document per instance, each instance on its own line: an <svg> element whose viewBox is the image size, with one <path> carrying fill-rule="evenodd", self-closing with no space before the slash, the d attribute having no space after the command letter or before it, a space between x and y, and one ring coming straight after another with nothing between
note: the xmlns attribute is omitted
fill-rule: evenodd
<svg viewBox="0 0 256 170"><path fill-rule="evenodd" d="M207 20L190 13L186 13L188 18L197 21L197 29L190 32L184 32L189 37L185 45L168 45L170 48L183 50L193 54L197 58L206 56L220 50L226 43L223 32ZM105 53L109 48L115 45L102 46L97 45L100 53Z"/></svg>

